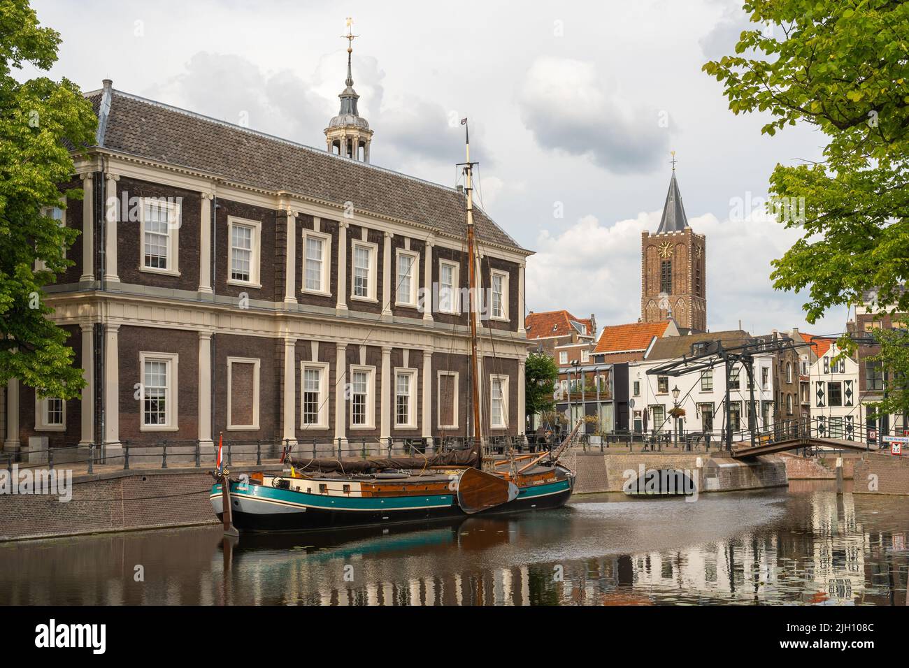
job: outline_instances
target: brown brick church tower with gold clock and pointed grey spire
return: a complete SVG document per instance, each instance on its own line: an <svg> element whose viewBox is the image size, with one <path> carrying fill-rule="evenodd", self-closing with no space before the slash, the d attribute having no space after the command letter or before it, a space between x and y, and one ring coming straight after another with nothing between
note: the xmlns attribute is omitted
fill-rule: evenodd
<svg viewBox="0 0 909 668"><path fill-rule="evenodd" d="M656 234L641 233L641 320L672 317L679 327L706 332L706 245L704 234L688 226L674 155L660 227Z"/></svg>

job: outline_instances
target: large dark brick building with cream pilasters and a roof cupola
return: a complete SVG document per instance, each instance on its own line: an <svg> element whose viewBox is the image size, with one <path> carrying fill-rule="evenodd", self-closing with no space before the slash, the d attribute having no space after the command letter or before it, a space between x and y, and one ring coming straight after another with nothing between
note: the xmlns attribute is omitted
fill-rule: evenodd
<svg viewBox="0 0 909 668"><path fill-rule="evenodd" d="M10 381L5 452L468 433L463 193L366 164L349 100L333 155L106 80L86 96L96 145L63 184L85 199L56 212L82 234L46 301L87 386L63 402ZM474 210L483 433L520 434L530 252Z"/></svg>

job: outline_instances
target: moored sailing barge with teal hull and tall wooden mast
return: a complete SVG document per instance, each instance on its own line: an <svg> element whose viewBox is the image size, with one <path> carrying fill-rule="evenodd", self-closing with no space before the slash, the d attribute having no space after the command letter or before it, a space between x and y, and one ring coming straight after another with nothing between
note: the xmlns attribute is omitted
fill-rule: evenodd
<svg viewBox="0 0 909 668"><path fill-rule="evenodd" d="M466 125L467 119L461 121ZM466 131L466 128L465 128ZM470 377L477 377L474 199L470 135L466 134L467 261L469 275ZM285 450L282 474L256 473L232 480L220 448L210 500L225 533L308 531L388 523L425 523L474 513L514 513L564 505L574 490L574 471L559 464L580 421L553 452L484 456L477 384L471 382L473 447L419 457L296 460ZM226 488L225 488L226 485Z"/></svg>

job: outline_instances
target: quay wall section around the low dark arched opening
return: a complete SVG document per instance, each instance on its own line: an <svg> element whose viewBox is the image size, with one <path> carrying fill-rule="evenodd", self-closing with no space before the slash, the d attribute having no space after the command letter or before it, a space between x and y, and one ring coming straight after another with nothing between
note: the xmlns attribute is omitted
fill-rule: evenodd
<svg viewBox="0 0 909 668"><path fill-rule="evenodd" d="M776 455L763 455L739 461L721 454L696 453L583 453L576 454L574 465L576 494L622 492L626 471L684 469L697 472L701 492L734 492L782 487L788 484L786 465ZM634 477L637 477L637 475Z"/></svg>

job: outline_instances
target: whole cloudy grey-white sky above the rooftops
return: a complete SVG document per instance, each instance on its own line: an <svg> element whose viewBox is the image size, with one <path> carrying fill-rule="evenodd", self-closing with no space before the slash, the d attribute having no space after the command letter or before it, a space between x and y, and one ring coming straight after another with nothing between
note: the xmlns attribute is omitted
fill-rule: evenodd
<svg viewBox="0 0 909 668"><path fill-rule="evenodd" d="M760 204L777 163L823 137L760 134L701 71L732 53L740 0L605 2L72 2L33 0L63 36L52 72L322 147L344 87L345 17L371 158L452 185L471 119L480 204L524 247L527 308L640 315L641 231L655 231L671 150L685 211L707 235L707 319L754 333L841 332L844 309L804 323L770 261L797 235ZM33 75L25 70L23 75Z"/></svg>

